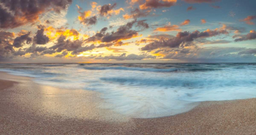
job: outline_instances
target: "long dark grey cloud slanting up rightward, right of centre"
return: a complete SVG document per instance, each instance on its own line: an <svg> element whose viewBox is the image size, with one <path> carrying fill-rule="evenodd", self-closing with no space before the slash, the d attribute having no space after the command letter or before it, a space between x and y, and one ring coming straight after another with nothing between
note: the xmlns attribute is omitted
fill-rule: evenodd
<svg viewBox="0 0 256 135"><path fill-rule="evenodd" d="M153 43L149 43L146 46L142 47L141 50L154 50L158 49L160 47L169 47L169 48L175 48L175 47L182 47L182 46L190 46L190 42L194 41L196 38L208 38L211 36L216 36L220 34L227 34L228 32L226 30L206 30L205 32L199 32L194 31L192 33L190 32L179 32L176 37L171 38L169 40L160 40L155 41Z"/></svg>

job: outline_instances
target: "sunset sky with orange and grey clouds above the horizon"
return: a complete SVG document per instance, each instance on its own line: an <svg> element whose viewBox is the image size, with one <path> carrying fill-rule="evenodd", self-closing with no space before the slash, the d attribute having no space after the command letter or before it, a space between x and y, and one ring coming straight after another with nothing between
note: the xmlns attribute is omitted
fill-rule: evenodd
<svg viewBox="0 0 256 135"><path fill-rule="evenodd" d="M255 0L0 0L0 62L253 63L255 5Z"/></svg>

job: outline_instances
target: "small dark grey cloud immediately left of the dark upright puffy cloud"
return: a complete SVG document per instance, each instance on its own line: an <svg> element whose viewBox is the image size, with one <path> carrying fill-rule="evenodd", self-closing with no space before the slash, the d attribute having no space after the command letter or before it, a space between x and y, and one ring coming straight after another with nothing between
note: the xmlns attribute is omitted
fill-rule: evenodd
<svg viewBox="0 0 256 135"><path fill-rule="evenodd" d="M32 38L29 37L31 32L21 35L15 38L13 41L13 46L16 48L22 47L23 43L26 41L26 44L30 44L32 42Z"/></svg>

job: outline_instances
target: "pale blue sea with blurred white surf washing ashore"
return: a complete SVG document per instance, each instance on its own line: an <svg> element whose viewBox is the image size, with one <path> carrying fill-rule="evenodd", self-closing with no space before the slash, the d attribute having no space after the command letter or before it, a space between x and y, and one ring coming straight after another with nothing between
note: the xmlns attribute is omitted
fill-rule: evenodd
<svg viewBox="0 0 256 135"><path fill-rule="evenodd" d="M41 85L99 92L105 103L97 107L137 118L179 114L199 102L256 97L256 63L0 64L0 71Z"/></svg>

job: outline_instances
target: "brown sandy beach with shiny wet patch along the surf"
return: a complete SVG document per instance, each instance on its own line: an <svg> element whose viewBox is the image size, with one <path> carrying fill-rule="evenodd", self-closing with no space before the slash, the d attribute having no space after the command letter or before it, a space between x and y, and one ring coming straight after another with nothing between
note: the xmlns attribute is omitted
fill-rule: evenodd
<svg viewBox="0 0 256 135"><path fill-rule="evenodd" d="M99 108L104 101L97 92L42 86L4 72L0 79L0 134L256 134L256 99L132 119Z"/></svg>

